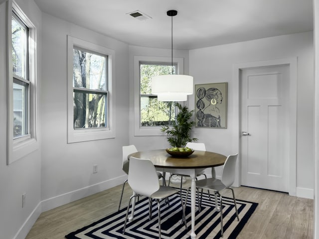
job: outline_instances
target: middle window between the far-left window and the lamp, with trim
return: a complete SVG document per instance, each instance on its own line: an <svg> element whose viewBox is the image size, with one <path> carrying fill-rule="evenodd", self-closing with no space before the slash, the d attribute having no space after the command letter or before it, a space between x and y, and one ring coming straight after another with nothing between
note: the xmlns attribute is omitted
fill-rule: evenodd
<svg viewBox="0 0 319 239"><path fill-rule="evenodd" d="M115 136L108 48L68 36L68 142Z"/></svg>

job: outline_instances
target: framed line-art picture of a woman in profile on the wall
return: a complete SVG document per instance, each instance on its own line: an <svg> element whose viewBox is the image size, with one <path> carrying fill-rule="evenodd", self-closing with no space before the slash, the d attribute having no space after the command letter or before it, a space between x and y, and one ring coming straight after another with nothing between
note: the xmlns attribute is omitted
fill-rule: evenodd
<svg viewBox="0 0 319 239"><path fill-rule="evenodd" d="M227 82L195 85L195 127L227 128Z"/></svg>

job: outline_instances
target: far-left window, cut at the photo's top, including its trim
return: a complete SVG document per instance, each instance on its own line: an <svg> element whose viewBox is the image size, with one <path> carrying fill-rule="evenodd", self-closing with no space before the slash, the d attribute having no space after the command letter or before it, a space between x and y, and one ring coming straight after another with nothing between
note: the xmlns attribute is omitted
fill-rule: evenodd
<svg viewBox="0 0 319 239"><path fill-rule="evenodd" d="M7 164L37 149L36 141L36 29L13 2L8 1Z"/></svg>

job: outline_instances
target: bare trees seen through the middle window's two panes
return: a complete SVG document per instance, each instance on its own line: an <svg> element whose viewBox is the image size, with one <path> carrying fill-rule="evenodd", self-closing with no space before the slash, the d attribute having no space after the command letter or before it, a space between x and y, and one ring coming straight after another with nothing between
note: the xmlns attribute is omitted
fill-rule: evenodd
<svg viewBox="0 0 319 239"><path fill-rule="evenodd" d="M107 56L73 49L74 129L107 126Z"/></svg>

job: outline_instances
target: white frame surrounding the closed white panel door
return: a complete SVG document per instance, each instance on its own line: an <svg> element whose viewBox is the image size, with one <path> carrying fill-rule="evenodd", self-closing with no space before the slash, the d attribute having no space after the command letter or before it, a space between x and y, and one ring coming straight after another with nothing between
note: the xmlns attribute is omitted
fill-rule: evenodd
<svg viewBox="0 0 319 239"><path fill-rule="evenodd" d="M257 67L270 67L270 66L289 66L289 195L296 196L297 189L297 57L254 61L245 63L233 64L233 115L238 118L234 125L233 138L234 147L239 152L236 164L236 178L234 186L241 185L241 70ZM237 90L235 90L237 89Z"/></svg>

